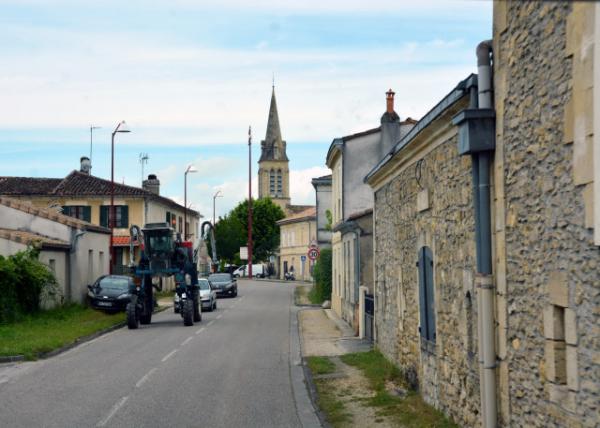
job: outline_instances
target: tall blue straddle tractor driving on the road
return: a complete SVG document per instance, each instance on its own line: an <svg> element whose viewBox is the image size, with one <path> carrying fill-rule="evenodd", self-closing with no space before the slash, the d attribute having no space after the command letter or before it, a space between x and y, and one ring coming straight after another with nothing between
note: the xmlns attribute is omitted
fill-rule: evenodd
<svg viewBox="0 0 600 428"><path fill-rule="evenodd" d="M129 290L131 301L127 305L127 326L136 329L140 324L150 324L154 309L153 288L161 290L159 278L171 276L175 277L175 292L180 298L183 324L191 326L200 322L197 251L193 251L192 243L182 241L168 223L149 223L141 230L134 225L129 231L130 269L135 280ZM137 265L133 260L136 243L142 249Z"/></svg>

